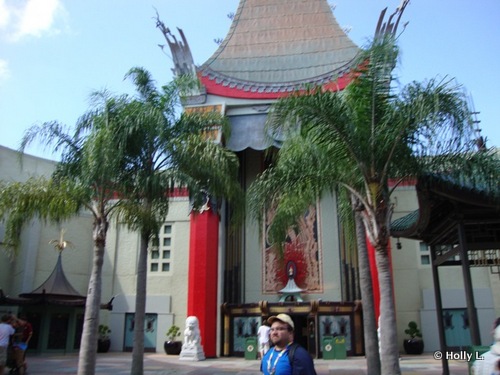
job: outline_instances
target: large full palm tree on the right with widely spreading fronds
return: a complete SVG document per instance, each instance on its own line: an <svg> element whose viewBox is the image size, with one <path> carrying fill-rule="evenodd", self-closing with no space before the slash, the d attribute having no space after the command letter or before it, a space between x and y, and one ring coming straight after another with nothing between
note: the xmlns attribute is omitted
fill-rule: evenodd
<svg viewBox="0 0 500 375"><path fill-rule="evenodd" d="M388 253L393 210L389 179L441 173L497 188L500 170L492 152L477 151L463 89L452 80L431 79L397 93L397 56L394 39L380 37L361 51L343 92L314 87L278 101L269 124L287 131L288 140L249 193L259 219L263 207L278 204L271 227L275 239L283 237L306 204L337 187L359 201L376 253L383 374L400 374Z"/></svg>

